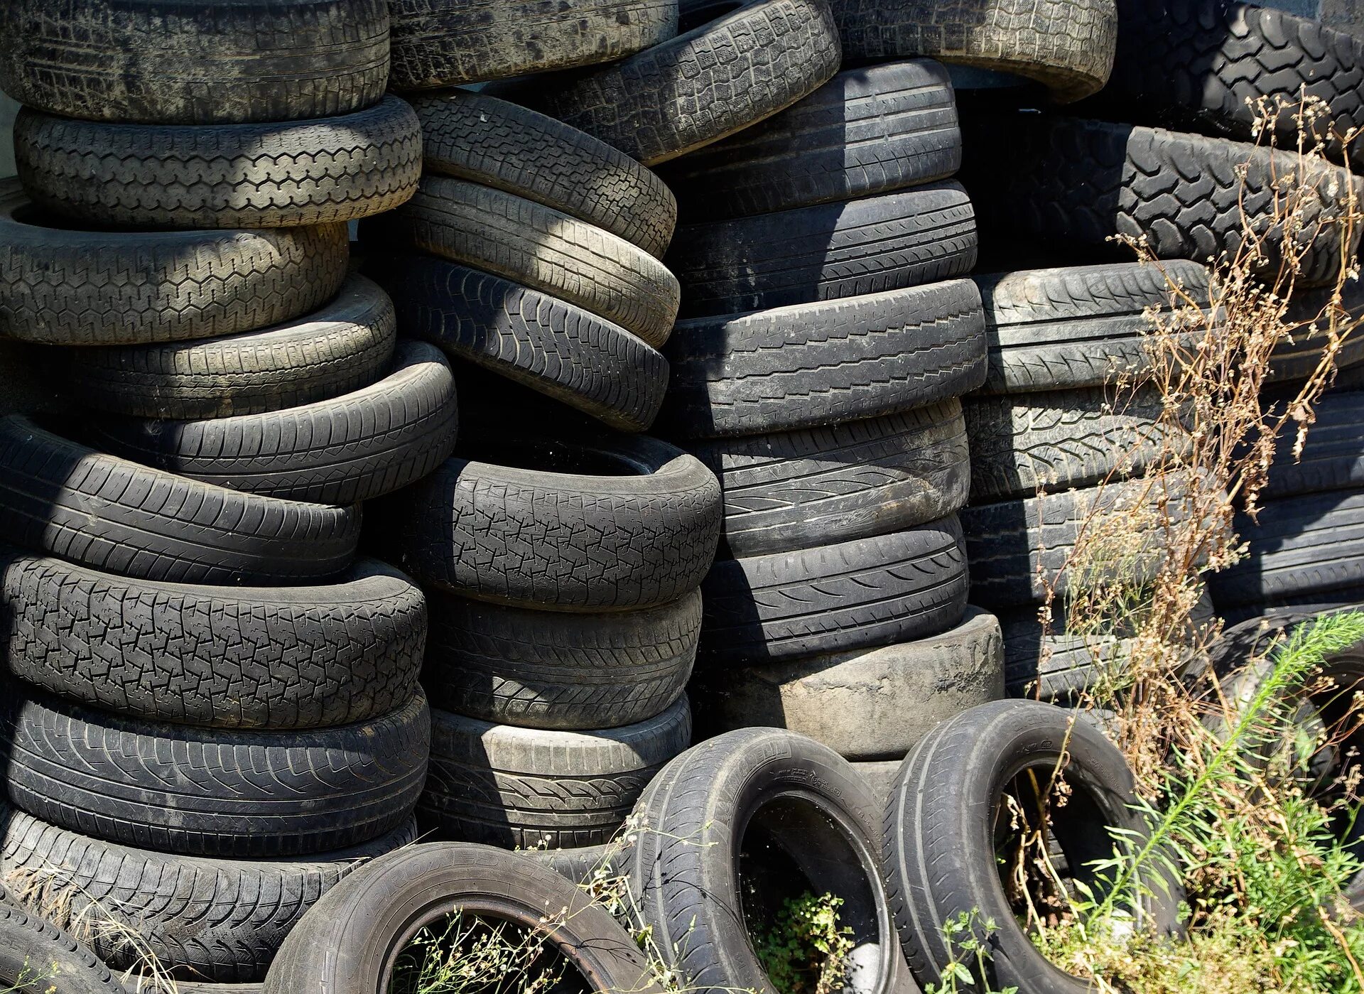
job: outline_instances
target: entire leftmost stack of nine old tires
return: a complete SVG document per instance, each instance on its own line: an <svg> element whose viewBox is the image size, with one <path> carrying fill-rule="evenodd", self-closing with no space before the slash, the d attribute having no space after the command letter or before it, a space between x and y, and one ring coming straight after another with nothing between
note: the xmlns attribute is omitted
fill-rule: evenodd
<svg viewBox="0 0 1364 994"><path fill-rule="evenodd" d="M442 462L457 406L346 273L346 222L420 169L387 27L378 0L0 12L0 334L90 412L0 421L0 859L115 965L258 980L416 834L426 603L356 559L360 503Z"/></svg>

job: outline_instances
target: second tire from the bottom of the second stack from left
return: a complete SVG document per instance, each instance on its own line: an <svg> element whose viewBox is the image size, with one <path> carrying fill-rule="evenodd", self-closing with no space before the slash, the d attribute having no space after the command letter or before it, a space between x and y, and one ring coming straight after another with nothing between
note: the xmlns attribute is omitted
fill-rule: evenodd
<svg viewBox="0 0 1364 994"><path fill-rule="evenodd" d="M520 728L618 728L682 695L701 594L642 611L563 614L432 590L421 686L434 708Z"/></svg>

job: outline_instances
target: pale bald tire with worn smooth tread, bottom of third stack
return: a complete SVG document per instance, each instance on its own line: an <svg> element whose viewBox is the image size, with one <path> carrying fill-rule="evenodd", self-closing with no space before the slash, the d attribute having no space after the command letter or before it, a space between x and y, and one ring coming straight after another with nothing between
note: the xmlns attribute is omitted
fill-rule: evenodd
<svg viewBox="0 0 1364 994"><path fill-rule="evenodd" d="M903 645L715 669L689 690L697 738L787 728L847 759L904 758L938 721L1004 697L994 615L968 607L955 627Z"/></svg>

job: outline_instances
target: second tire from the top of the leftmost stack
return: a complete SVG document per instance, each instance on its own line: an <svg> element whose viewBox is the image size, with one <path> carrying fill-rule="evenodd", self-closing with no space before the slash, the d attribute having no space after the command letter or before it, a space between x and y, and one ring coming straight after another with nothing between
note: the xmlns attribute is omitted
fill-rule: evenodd
<svg viewBox="0 0 1364 994"><path fill-rule="evenodd" d="M397 97L274 124L105 124L20 110L14 131L34 203L100 225L337 224L398 206L421 176L421 131Z"/></svg>

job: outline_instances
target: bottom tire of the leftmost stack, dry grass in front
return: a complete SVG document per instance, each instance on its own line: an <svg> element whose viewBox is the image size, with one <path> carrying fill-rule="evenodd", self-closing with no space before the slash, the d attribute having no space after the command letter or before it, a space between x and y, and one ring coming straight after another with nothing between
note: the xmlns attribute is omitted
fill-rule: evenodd
<svg viewBox="0 0 1364 994"><path fill-rule="evenodd" d="M416 837L408 819L372 841L315 856L209 859L102 843L10 811L0 870L31 907L89 934L116 969L138 965L138 950L119 934L131 930L177 976L250 984L265 978L284 937L322 894ZM179 982L176 990L201 987ZM218 987L220 994L244 990Z"/></svg>

